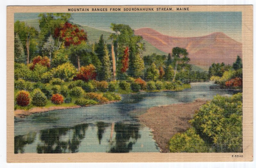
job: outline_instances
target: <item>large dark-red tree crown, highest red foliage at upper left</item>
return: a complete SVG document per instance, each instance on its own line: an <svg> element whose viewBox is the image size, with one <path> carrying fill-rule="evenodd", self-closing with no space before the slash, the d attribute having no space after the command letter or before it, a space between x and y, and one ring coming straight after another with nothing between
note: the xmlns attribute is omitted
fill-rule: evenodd
<svg viewBox="0 0 256 168"><path fill-rule="evenodd" d="M80 30L76 25L66 22L61 28L55 28L54 37L64 40L65 46L78 45L87 40L84 30Z"/></svg>

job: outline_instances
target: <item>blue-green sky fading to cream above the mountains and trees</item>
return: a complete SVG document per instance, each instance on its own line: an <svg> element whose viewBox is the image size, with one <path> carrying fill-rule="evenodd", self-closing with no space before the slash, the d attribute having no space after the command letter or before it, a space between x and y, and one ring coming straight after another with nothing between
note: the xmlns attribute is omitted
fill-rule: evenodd
<svg viewBox="0 0 256 168"><path fill-rule="evenodd" d="M14 21L38 19L39 13L15 13ZM110 23L127 24L132 29L148 27L169 36L204 36L223 32L236 41L242 39L242 12L116 12L72 13L71 21L111 31Z"/></svg>

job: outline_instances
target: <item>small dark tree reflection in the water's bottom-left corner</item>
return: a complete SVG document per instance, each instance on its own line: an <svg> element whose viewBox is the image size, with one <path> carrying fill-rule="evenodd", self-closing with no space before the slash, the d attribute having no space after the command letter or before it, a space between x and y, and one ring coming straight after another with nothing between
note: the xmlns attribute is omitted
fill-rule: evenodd
<svg viewBox="0 0 256 168"><path fill-rule="evenodd" d="M28 133L26 135L18 135L14 137L14 153L23 153L24 146L34 142L36 132Z"/></svg>

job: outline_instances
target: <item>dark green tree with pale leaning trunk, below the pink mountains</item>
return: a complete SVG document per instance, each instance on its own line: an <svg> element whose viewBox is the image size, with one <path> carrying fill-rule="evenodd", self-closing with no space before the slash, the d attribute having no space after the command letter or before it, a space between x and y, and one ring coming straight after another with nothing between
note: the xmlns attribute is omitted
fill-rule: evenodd
<svg viewBox="0 0 256 168"><path fill-rule="evenodd" d="M182 57L181 57L182 56ZM175 65L174 68L174 75L172 81L175 80L176 74L177 74L177 68L180 66L181 68L184 67L186 63L190 60L188 58L188 52L185 48L180 47L174 47L172 49L172 57L173 57L173 63Z"/></svg>

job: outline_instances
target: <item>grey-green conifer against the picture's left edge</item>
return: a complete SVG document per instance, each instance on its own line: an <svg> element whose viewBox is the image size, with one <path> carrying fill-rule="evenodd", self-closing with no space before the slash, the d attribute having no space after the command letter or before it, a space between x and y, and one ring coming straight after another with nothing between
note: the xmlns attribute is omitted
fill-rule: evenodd
<svg viewBox="0 0 256 168"><path fill-rule="evenodd" d="M23 45L18 34L14 36L14 61L18 63L26 62Z"/></svg>

